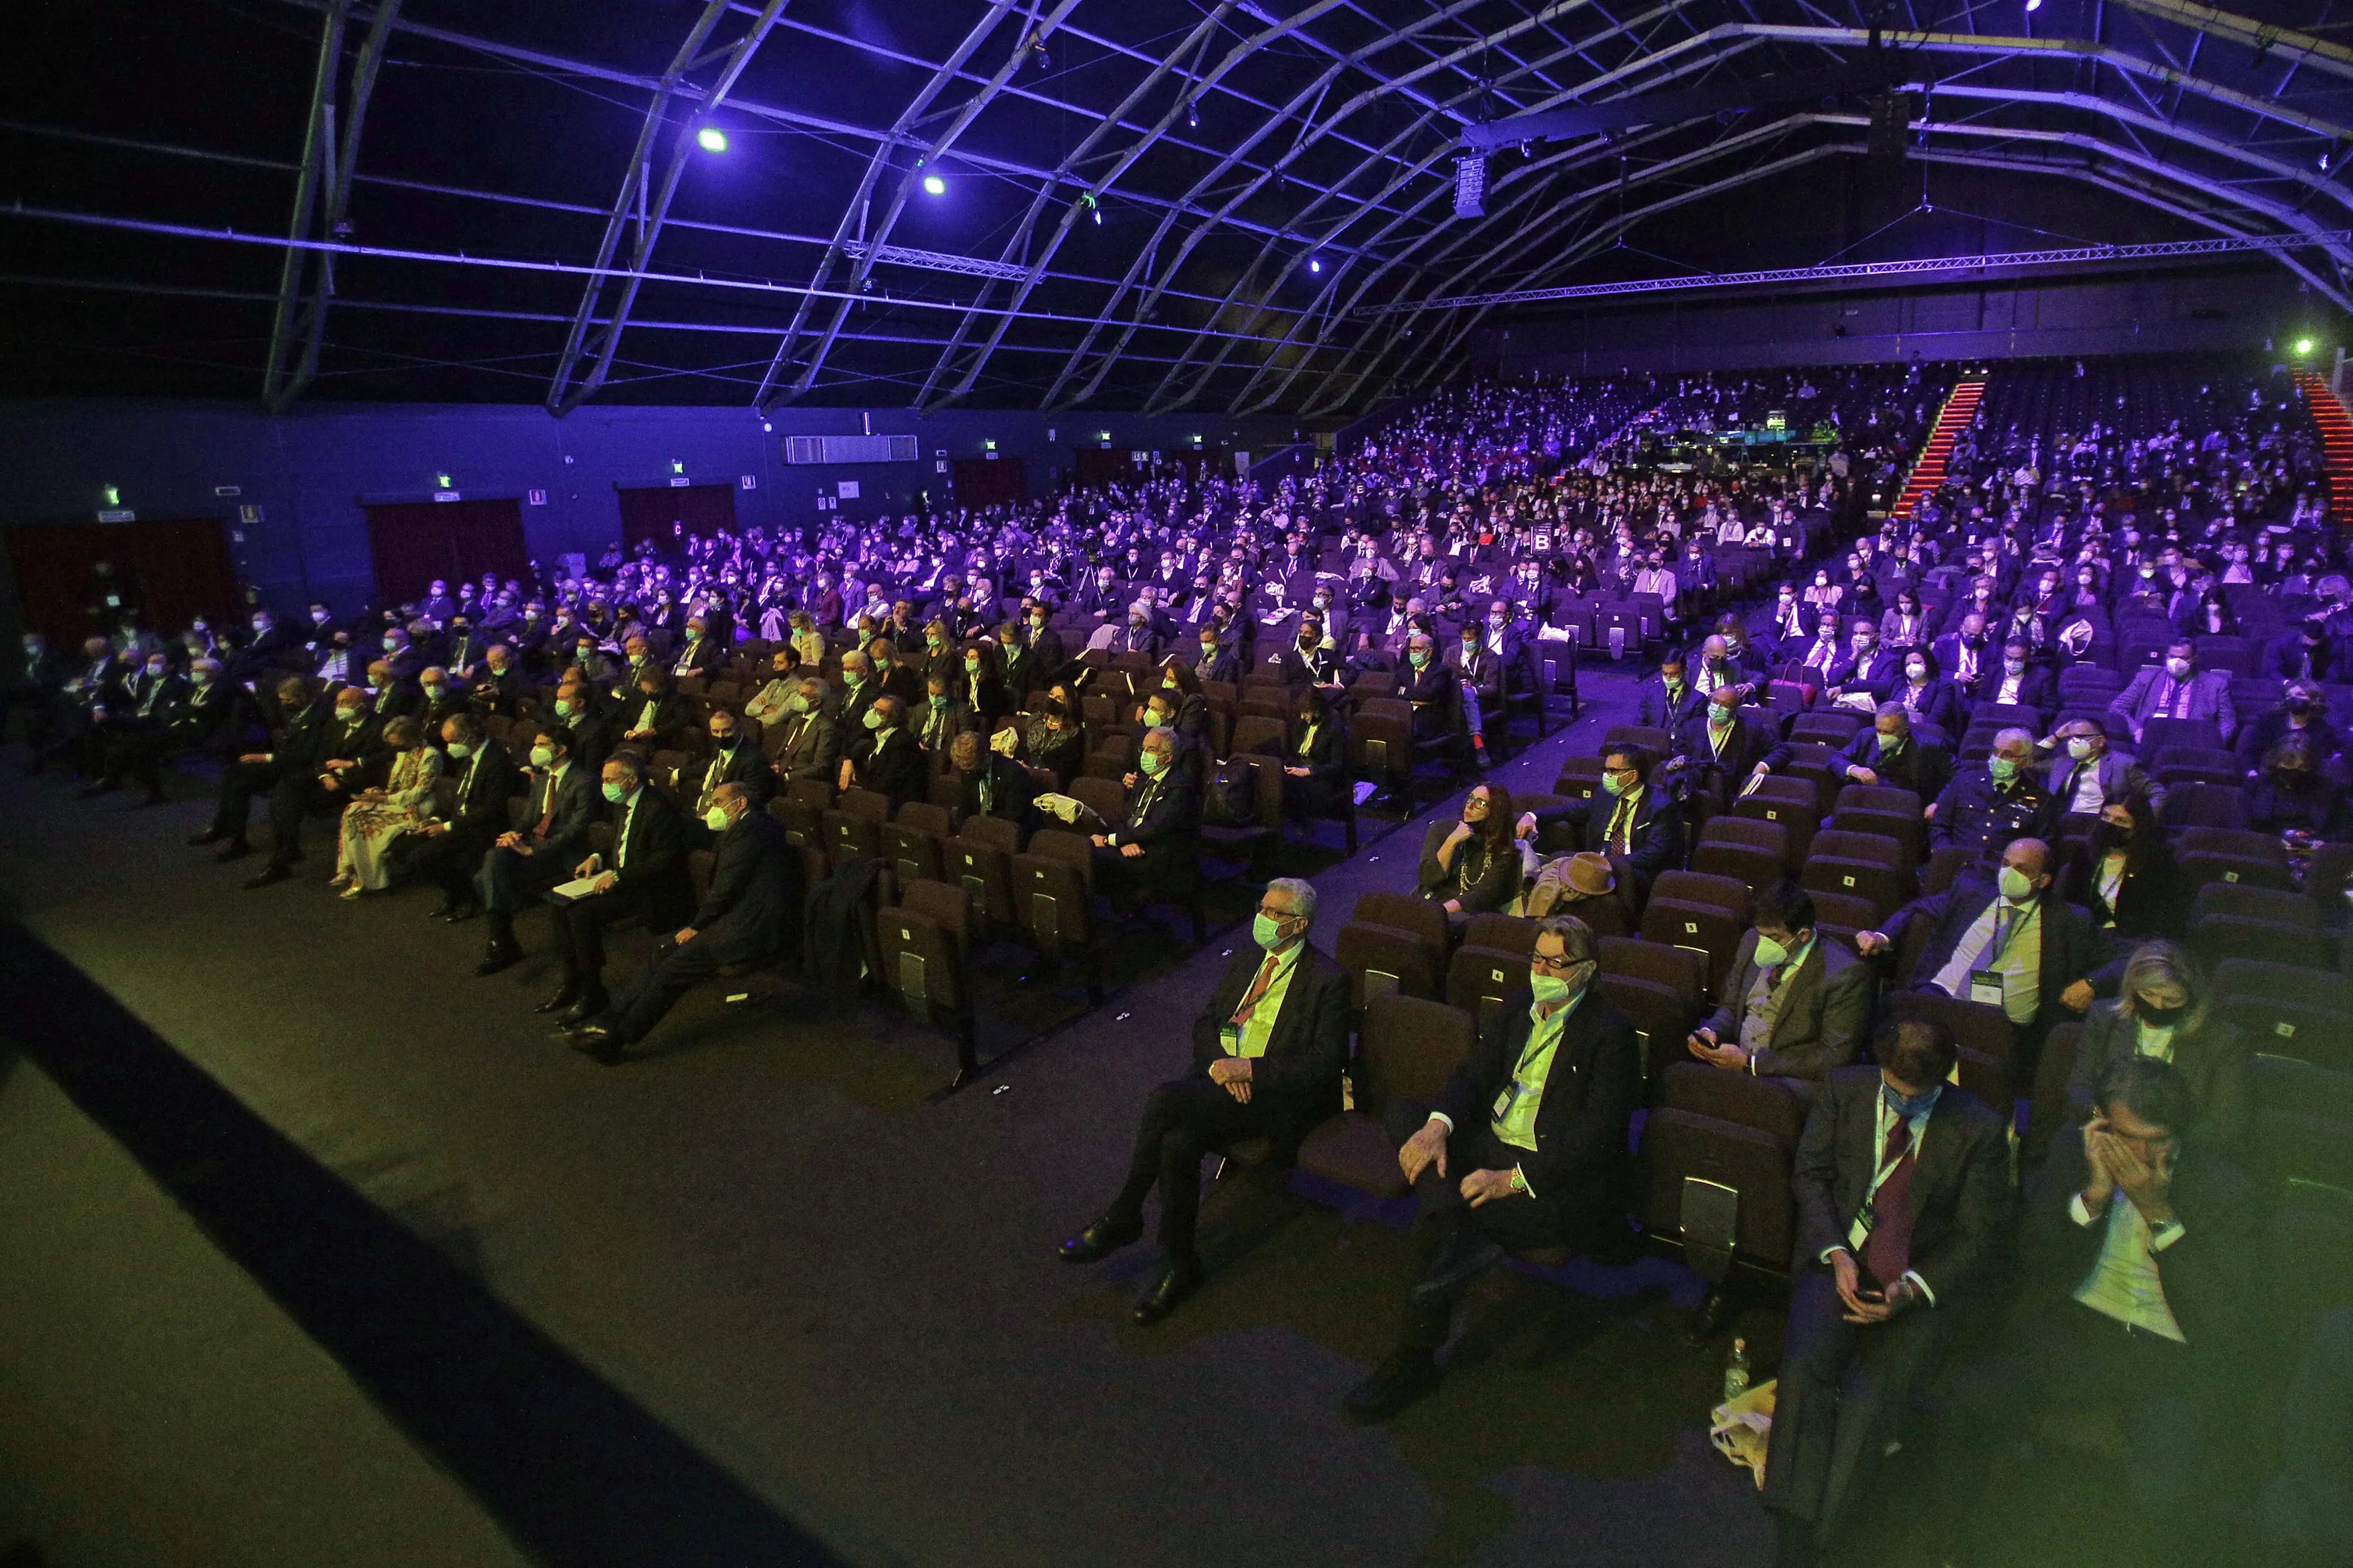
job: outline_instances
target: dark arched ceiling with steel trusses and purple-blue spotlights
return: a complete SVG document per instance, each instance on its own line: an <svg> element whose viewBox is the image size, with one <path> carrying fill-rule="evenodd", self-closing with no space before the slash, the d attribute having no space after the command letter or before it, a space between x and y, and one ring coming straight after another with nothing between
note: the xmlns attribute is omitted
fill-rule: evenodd
<svg viewBox="0 0 2353 1568"><path fill-rule="evenodd" d="M1315 414L1454 372L1501 290L2292 235L2247 264L2344 306L2337 9L52 0L0 113L0 372ZM1899 160L1861 94L1758 92L1873 21ZM1454 217L1466 125L1692 89L1722 106L1494 153L1487 217Z"/></svg>

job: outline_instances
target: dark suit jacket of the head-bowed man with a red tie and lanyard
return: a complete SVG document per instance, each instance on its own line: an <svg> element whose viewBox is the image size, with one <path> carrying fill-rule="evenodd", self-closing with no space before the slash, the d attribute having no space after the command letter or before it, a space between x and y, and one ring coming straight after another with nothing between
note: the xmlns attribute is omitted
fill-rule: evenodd
<svg viewBox="0 0 2353 1568"><path fill-rule="evenodd" d="M1805 1269L1847 1229L1871 1189L1878 1067L1833 1071L1798 1140L1798 1255ZM1911 1182L1911 1269L1937 1307L1953 1307L1986 1283L2009 1227L2009 1137L1984 1099L1946 1083L1920 1135Z"/></svg>

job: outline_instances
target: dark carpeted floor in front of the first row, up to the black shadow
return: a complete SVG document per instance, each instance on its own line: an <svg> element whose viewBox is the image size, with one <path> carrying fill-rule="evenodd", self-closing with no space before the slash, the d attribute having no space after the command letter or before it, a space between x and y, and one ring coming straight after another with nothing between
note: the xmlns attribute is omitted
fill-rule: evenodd
<svg viewBox="0 0 2353 1568"><path fill-rule="evenodd" d="M1546 789L1560 756L1628 718L1631 687L1588 673L1586 718L1501 777ZM1132 942L1134 977L1106 1008L939 1102L953 1055L934 1036L880 1010L729 1010L715 991L680 1005L642 1059L602 1069L532 1015L553 986L536 918L522 925L527 965L473 979L480 928L426 923L428 892L336 902L318 831L299 881L242 892L242 869L181 848L205 815L198 796L184 777L165 810L85 805L9 768L12 913L294 1147L852 1561L1769 1552L1753 1486L1706 1448L1722 1351L1680 1342L1675 1307L1694 1281L1668 1264L1584 1269L1579 1290L1494 1276L1442 1391L1360 1431L1337 1403L1393 1328L1398 1215L1306 1182L1221 1187L1214 1278L1153 1330L1127 1323L1151 1248L1096 1269L1052 1257L1115 1184L1144 1092L1184 1067L1184 1024L1238 925L1195 956ZM1318 873L1318 939L1355 892L1409 881L1419 829ZM616 946L616 977L640 946ZM1026 1005L1071 1012L1059 996ZM988 1041L1016 1034L1000 1024ZM1760 1358L1777 1316L1762 1304L1744 1323ZM480 1559L449 1540L440 1561Z"/></svg>

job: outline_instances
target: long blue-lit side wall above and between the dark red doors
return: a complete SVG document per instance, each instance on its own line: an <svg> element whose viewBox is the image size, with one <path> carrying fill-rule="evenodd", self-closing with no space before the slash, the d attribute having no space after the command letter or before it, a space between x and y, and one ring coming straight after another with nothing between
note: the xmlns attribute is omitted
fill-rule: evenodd
<svg viewBox="0 0 2353 1568"><path fill-rule="evenodd" d="M915 433L915 464L788 466L786 436ZM762 424L774 428L762 428ZM228 520L231 549L245 579L261 584L280 610L325 598L358 610L374 591L365 501L424 501L449 476L461 497L527 497L532 553L553 567L567 551L591 558L621 537L614 487L668 485L682 478L739 485L744 527L791 530L833 513L816 497L859 480L861 497L840 516L873 518L915 506L929 492L948 504L948 473L936 464L974 459L998 443L1002 459L1024 459L1031 494L1047 494L1052 473L1071 471L1078 445L1122 450L1202 445L1266 452L1292 438L1289 419L1207 419L1184 414L1031 414L944 410L779 410L748 407L584 407L565 419L536 405L384 405L315 403L271 417L238 403L21 400L0 403L0 464L9 476L0 523L89 523L106 487L139 518ZM946 452L946 459L936 457ZM755 487L741 490L744 476ZM235 497L216 494L238 487ZM240 520L259 506L259 520Z"/></svg>

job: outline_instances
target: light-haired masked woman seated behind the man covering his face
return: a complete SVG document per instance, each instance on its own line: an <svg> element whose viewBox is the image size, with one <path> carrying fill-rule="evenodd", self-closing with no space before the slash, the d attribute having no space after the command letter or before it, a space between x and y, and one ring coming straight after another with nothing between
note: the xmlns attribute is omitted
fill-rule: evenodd
<svg viewBox="0 0 2353 1568"><path fill-rule="evenodd" d="M2118 1062L2160 1057L2188 1078L2195 1121L2181 1128L2193 1144L2238 1149L2252 1116L2247 1041L2209 1012L2198 965L2172 942L2146 942L2125 961L2115 1001L2092 1003L2075 1041L2068 1099L2085 1118Z"/></svg>

